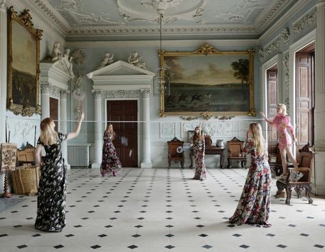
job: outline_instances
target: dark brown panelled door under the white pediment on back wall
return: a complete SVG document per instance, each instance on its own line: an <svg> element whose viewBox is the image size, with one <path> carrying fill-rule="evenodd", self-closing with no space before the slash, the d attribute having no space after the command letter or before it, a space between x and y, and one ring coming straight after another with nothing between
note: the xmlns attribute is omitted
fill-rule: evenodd
<svg viewBox="0 0 325 252"><path fill-rule="evenodd" d="M136 100L109 100L107 121L116 133L113 144L123 167L138 167L138 104Z"/></svg>

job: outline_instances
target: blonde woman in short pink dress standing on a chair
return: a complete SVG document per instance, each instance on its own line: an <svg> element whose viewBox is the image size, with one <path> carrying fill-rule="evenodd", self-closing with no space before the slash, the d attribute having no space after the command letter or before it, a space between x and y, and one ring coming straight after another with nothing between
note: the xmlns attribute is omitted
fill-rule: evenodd
<svg viewBox="0 0 325 252"><path fill-rule="evenodd" d="M272 126L276 126L276 131L278 133L278 146L280 150L282 170L283 170L283 173L280 176L277 176L276 179L286 179L287 178L286 154L288 155L293 166L295 168L298 168L298 163L296 159L293 157L293 154L291 152L291 146L292 146L291 141L293 139L293 141L296 142L297 139L295 137L293 126L291 125L290 122L290 117L287 114L287 107L285 106L285 104L278 104L278 106L276 106L277 115L272 119L267 119L267 117L263 112L260 113L265 118L265 121L268 124ZM289 132L291 133L292 139L289 133L287 132L287 130L289 130Z"/></svg>

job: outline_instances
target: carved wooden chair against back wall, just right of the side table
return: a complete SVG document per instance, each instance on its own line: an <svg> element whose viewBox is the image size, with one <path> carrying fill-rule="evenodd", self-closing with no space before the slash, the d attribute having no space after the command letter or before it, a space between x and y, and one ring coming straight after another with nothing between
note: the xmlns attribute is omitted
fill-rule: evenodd
<svg viewBox="0 0 325 252"><path fill-rule="evenodd" d="M228 148L228 168L231 168L231 161L237 161L241 163L241 167L246 167L247 157L243 155L243 141L234 137L230 141L227 141Z"/></svg>

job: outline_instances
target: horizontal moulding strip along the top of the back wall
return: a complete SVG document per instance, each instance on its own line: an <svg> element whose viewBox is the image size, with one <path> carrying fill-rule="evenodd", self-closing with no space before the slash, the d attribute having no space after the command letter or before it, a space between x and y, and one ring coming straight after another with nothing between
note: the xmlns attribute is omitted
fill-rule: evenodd
<svg viewBox="0 0 325 252"><path fill-rule="evenodd" d="M257 47L257 39L240 40L178 40L163 41L163 47L191 47L208 43L214 47ZM67 42L69 48L108 48L108 47L159 47L160 41L75 41Z"/></svg>

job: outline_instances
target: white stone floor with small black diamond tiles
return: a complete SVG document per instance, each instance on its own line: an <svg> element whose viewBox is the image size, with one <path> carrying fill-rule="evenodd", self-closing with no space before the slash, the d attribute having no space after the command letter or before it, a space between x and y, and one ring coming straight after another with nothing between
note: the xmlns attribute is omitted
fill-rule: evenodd
<svg viewBox="0 0 325 252"><path fill-rule="evenodd" d="M227 222L247 172L208 169L202 182L190 169L71 169L66 229L34 229L36 196L13 195L23 201L0 212L0 251L325 251L325 197L272 197L269 228Z"/></svg>

